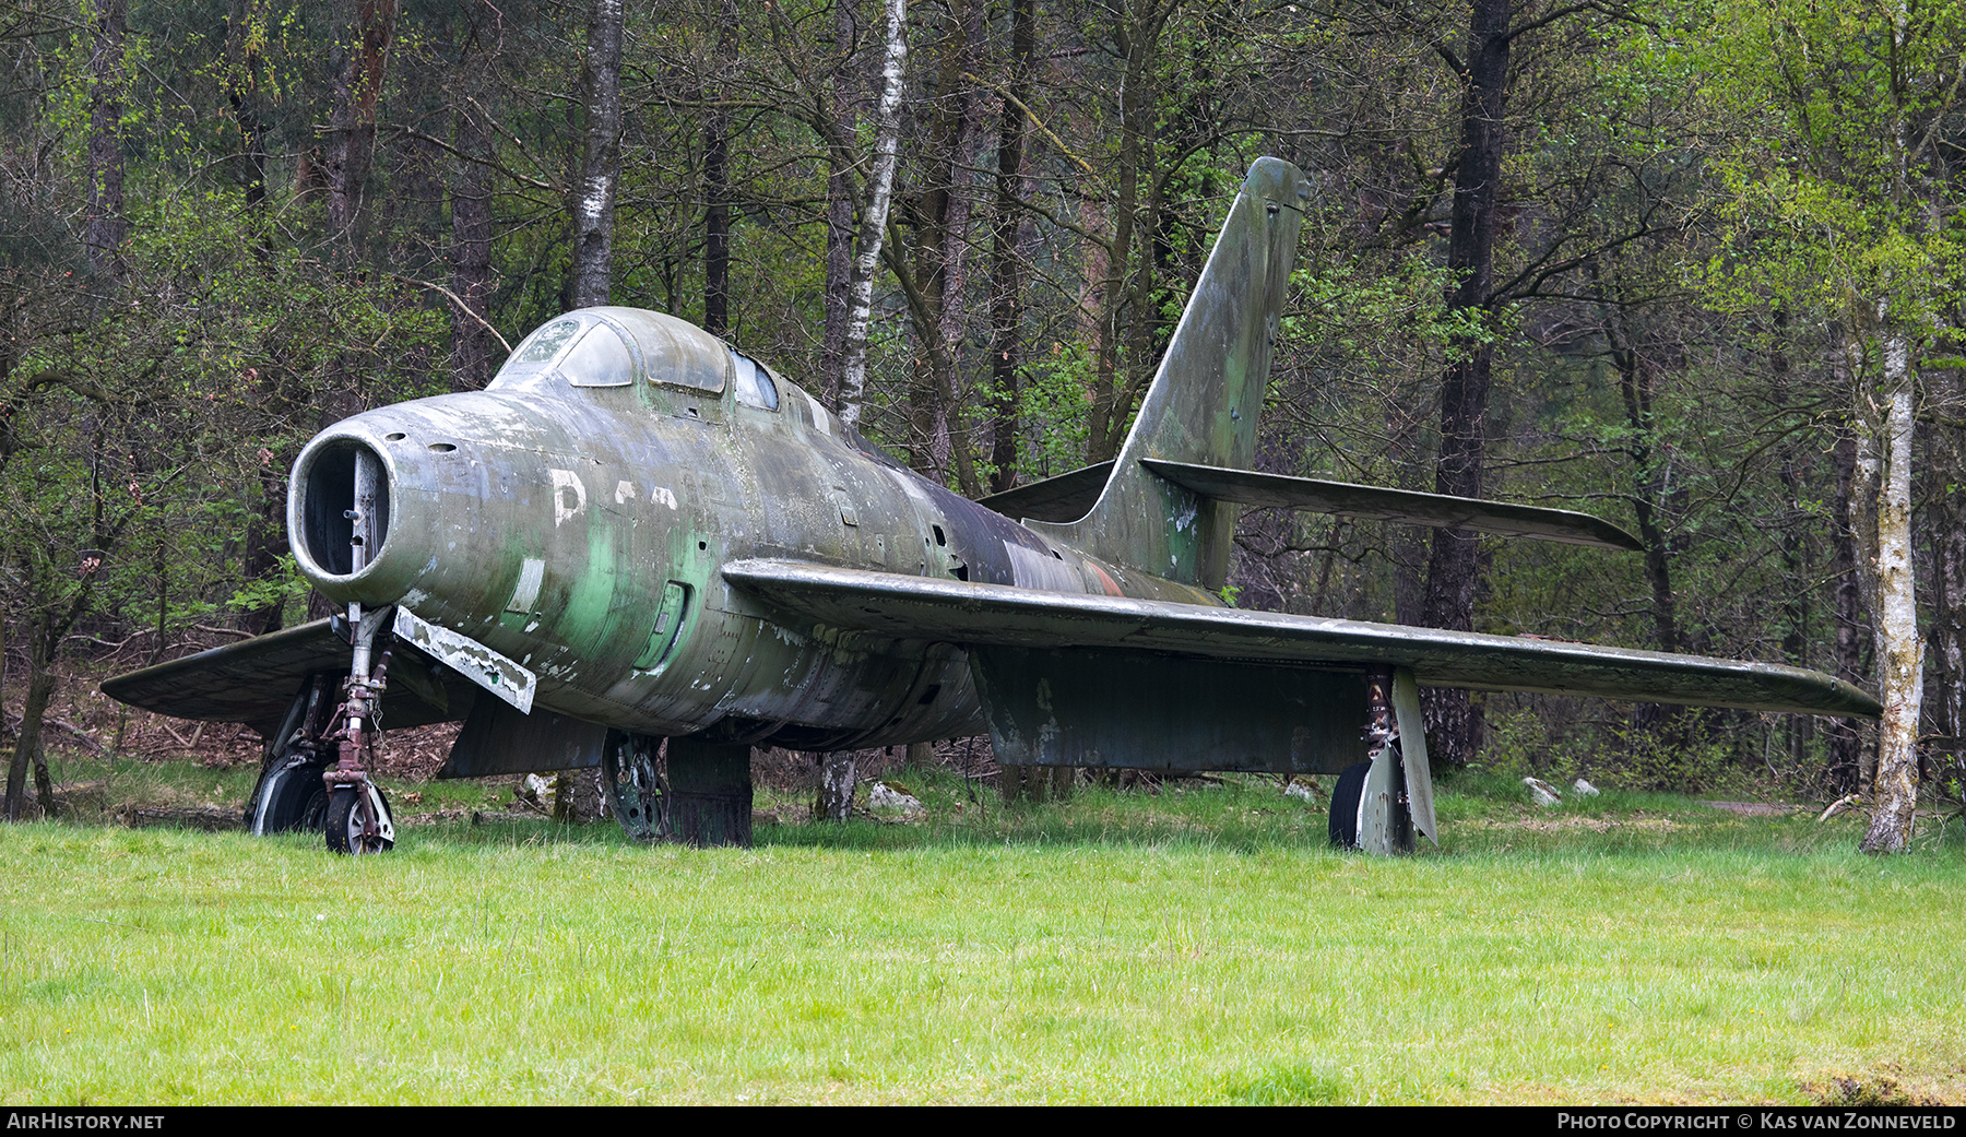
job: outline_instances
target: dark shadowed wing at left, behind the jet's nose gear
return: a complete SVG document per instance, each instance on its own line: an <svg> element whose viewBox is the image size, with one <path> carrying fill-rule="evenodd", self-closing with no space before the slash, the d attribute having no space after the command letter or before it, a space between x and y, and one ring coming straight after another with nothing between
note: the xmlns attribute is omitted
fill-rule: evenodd
<svg viewBox="0 0 1966 1137"><path fill-rule="evenodd" d="M244 722L260 734L273 734L301 683L320 671L348 675L352 655L348 641L326 620L315 620L118 675L102 685L102 694L173 718ZM403 645L389 661L389 681L381 700L385 728L464 718L478 694L462 675ZM425 694L415 692L419 687ZM442 706L434 706L429 694L436 694Z"/></svg>

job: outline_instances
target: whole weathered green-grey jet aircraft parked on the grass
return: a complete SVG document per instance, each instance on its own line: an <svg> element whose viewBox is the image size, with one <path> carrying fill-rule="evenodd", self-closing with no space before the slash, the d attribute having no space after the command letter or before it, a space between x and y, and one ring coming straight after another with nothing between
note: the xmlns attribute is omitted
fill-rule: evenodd
<svg viewBox="0 0 1966 1137"><path fill-rule="evenodd" d="M301 452L293 553L346 618L104 690L256 726L254 832L340 852L395 840L376 730L438 720L464 722L444 775L600 765L641 838L747 842L751 746L987 730L1020 765L1351 771L1333 840L1392 852L1435 838L1419 685L1878 714L1793 667L1225 606L1241 504L1636 547L1581 513L1248 470L1307 193L1250 169L1109 466L969 502L696 327L582 309L486 391Z"/></svg>

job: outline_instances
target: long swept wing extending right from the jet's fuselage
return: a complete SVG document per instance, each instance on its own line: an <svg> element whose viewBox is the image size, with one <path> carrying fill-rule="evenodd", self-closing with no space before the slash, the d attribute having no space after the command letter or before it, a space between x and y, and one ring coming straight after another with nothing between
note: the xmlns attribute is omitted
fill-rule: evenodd
<svg viewBox="0 0 1966 1137"><path fill-rule="evenodd" d="M1864 718L1881 712L1850 683L1779 663L1038 592L802 561L735 561L723 567L723 578L806 620L893 639L1303 667L1388 665L1410 667L1429 687Z"/></svg>

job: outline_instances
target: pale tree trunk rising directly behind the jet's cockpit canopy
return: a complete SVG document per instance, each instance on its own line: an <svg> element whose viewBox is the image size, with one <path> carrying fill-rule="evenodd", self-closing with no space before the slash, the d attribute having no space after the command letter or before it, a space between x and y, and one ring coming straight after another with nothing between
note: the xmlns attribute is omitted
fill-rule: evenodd
<svg viewBox="0 0 1966 1137"><path fill-rule="evenodd" d="M568 307L607 303L613 269L613 199L621 181L621 0L594 0L582 65L588 124L574 191L574 268Z"/></svg>

